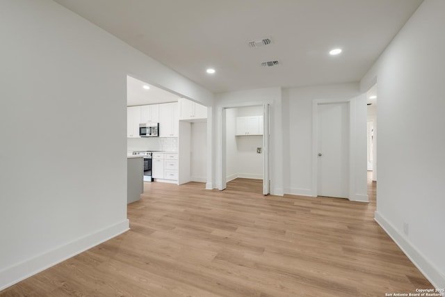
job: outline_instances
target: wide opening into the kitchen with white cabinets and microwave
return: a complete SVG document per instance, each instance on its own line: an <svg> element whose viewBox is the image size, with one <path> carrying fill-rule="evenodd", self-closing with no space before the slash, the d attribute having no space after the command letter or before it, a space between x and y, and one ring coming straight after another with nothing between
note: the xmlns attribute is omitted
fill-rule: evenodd
<svg viewBox="0 0 445 297"><path fill-rule="evenodd" d="M156 124L156 136L140 125ZM150 134L151 135L151 134ZM145 182L207 182L207 106L127 76L127 154L145 152Z"/></svg>

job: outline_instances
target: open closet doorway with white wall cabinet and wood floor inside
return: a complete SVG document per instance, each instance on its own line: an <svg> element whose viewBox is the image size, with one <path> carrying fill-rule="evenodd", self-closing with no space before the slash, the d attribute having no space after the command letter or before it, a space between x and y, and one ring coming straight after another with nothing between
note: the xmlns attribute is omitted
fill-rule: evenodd
<svg viewBox="0 0 445 297"><path fill-rule="evenodd" d="M269 104L220 109L220 185L270 193Z"/></svg>

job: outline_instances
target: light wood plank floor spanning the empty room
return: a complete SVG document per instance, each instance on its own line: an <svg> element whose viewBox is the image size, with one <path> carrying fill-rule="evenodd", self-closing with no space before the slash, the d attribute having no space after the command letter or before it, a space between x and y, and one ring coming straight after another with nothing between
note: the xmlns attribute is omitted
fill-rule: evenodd
<svg viewBox="0 0 445 297"><path fill-rule="evenodd" d="M369 204L145 183L131 230L0 296L385 296L432 287Z"/></svg>

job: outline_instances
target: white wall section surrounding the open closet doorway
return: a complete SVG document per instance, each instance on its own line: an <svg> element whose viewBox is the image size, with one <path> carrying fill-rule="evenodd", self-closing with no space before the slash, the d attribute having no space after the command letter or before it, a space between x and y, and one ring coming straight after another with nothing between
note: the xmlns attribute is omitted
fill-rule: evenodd
<svg viewBox="0 0 445 297"><path fill-rule="evenodd" d="M216 94L216 106L213 109L214 122L212 150L213 155L213 188L218 188L219 178L219 135L220 109L241 106L255 106L259 104L270 104L270 190L272 194L283 195L283 166L282 166L282 104L281 88L262 88L254 90L239 90Z"/></svg>

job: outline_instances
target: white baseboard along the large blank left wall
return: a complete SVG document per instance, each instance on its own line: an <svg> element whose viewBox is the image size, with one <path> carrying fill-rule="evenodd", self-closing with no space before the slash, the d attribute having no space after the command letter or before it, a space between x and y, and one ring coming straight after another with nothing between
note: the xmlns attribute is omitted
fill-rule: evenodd
<svg viewBox="0 0 445 297"><path fill-rule="evenodd" d="M0 291L129 230L129 220L106 227L0 271Z"/></svg>

